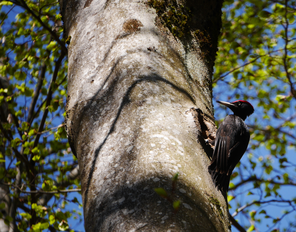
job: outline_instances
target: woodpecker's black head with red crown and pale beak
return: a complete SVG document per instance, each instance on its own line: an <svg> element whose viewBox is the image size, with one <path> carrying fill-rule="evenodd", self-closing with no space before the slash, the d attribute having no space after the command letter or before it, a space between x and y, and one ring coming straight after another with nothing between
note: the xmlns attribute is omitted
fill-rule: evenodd
<svg viewBox="0 0 296 232"><path fill-rule="evenodd" d="M239 116L242 120L245 119L254 113L254 107L251 105L250 102L238 100L235 102L220 102L216 101L222 105L226 105L233 111L233 114Z"/></svg>

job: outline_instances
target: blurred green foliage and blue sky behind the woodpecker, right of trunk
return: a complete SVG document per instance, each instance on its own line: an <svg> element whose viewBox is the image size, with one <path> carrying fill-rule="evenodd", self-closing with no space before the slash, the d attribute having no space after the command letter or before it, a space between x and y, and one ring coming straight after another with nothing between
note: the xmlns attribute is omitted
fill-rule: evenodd
<svg viewBox="0 0 296 232"><path fill-rule="evenodd" d="M255 108L246 120L249 149L228 193L230 212L248 231L296 227L295 6L295 1L224 2L213 93L219 100L248 100ZM226 111L219 114L217 107L219 124Z"/></svg>

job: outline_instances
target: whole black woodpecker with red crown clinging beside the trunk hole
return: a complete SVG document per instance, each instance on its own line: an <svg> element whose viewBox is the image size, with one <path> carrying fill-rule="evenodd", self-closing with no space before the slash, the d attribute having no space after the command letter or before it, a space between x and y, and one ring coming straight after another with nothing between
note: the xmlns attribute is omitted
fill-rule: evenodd
<svg viewBox="0 0 296 232"><path fill-rule="evenodd" d="M247 101L221 102L233 111L219 126L216 138L211 142L215 145L208 172L220 191L228 191L230 176L236 164L247 150L250 133L245 119L254 113L254 107Z"/></svg>

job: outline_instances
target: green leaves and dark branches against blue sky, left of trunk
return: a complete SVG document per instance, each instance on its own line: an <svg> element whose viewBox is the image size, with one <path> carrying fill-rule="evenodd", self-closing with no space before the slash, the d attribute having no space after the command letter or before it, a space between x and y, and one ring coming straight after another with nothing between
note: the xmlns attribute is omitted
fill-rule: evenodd
<svg viewBox="0 0 296 232"><path fill-rule="evenodd" d="M0 8L0 220L19 231L74 231L67 221L82 215L67 205L81 206L80 195L69 194L80 181L79 172L69 176L78 167L63 124L68 67L60 6L19 0Z"/></svg>

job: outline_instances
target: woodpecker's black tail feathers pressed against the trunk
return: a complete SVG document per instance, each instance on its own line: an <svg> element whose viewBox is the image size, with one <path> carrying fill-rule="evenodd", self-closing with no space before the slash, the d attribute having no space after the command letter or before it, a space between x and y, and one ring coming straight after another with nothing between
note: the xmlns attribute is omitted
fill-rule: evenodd
<svg viewBox="0 0 296 232"><path fill-rule="evenodd" d="M215 187L226 194L229 188L231 173L227 175L227 173L221 174L220 172L216 172L216 167L213 168L212 165L208 166L208 172L211 174Z"/></svg>

